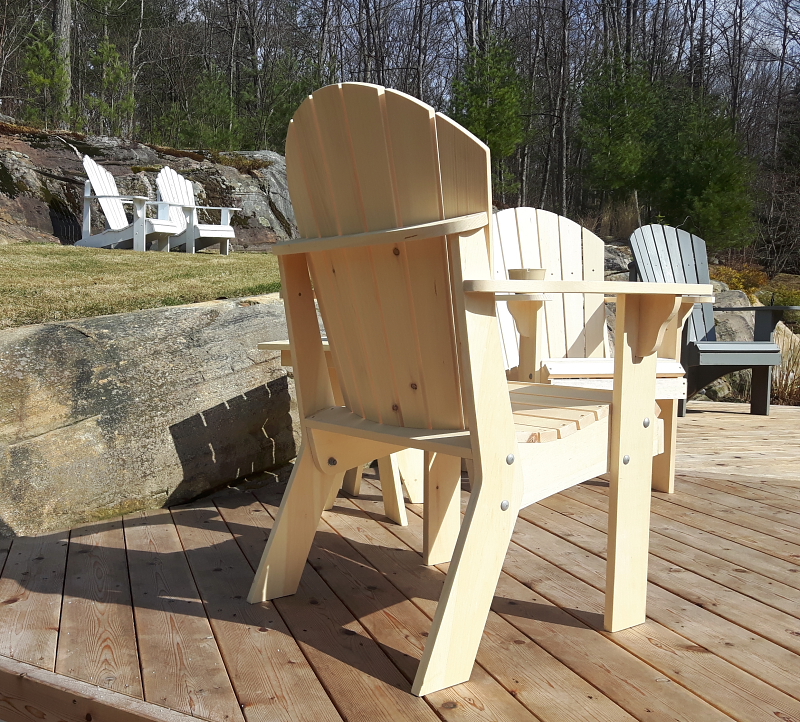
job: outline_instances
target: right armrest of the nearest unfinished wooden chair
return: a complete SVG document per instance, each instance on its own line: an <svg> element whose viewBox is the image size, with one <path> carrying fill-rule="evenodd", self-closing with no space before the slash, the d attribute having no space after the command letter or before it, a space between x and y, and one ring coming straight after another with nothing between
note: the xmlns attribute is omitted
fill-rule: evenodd
<svg viewBox="0 0 800 722"><path fill-rule="evenodd" d="M711 284L631 283L630 281L464 281L464 293L493 293L498 300L531 293L602 293L634 296L712 296Z"/></svg>

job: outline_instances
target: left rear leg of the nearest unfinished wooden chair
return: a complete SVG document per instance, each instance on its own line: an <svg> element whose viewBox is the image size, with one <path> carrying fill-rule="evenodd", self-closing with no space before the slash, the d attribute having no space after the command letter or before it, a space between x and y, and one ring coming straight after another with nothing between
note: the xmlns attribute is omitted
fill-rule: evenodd
<svg viewBox="0 0 800 722"><path fill-rule="evenodd" d="M309 448L301 447L250 587L248 602L264 602L297 591L322 508L331 486L340 479L341 474L323 474Z"/></svg>

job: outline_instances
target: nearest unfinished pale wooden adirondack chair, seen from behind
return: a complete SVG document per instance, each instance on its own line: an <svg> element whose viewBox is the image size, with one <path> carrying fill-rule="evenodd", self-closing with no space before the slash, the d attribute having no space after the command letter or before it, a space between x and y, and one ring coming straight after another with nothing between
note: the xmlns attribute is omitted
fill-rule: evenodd
<svg viewBox="0 0 800 722"><path fill-rule="evenodd" d="M416 448L423 561L452 561L414 694L469 678L518 510L609 470L605 624L643 622L655 354L681 295L710 287L493 280L488 148L402 93L323 88L296 112L286 149L304 238L274 251L303 442L249 600L296 591L340 469ZM613 393L507 381L496 296L543 293L618 294ZM563 424L539 424L553 407ZM474 467L463 522L461 458Z"/></svg>

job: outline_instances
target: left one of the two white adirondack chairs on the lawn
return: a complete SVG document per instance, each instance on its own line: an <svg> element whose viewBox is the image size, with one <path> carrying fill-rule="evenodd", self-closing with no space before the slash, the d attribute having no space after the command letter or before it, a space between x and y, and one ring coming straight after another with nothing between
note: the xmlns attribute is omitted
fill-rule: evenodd
<svg viewBox="0 0 800 722"><path fill-rule="evenodd" d="M170 219L167 204L142 196L121 196L114 176L88 155L83 156L83 167L89 180L86 181L83 192L83 234L75 243L76 246L114 246L144 251L149 241L155 241L159 250L169 248L169 238L178 232L178 227ZM92 235L91 202L95 198L103 209L108 228L102 233ZM128 222L123 203L133 205L133 223ZM147 207L152 205L158 206L157 218L147 217Z"/></svg>

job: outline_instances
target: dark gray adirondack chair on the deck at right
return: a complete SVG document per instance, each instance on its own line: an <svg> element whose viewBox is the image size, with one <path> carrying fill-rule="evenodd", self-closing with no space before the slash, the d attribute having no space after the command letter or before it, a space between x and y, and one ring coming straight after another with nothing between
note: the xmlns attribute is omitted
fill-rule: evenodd
<svg viewBox="0 0 800 722"><path fill-rule="evenodd" d="M631 280L662 283L710 283L706 243L702 238L671 226L642 226L631 236L634 263ZM714 311L755 311L753 341L718 341ZM681 363L686 369L687 398L712 381L743 369L753 370L750 413L769 416L772 367L781 363L780 347L773 334L781 317L780 307L743 306L716 309L697 304L684 327ZM679 404L686 414L686 401Z"/></svg>

